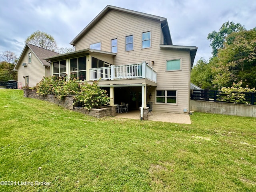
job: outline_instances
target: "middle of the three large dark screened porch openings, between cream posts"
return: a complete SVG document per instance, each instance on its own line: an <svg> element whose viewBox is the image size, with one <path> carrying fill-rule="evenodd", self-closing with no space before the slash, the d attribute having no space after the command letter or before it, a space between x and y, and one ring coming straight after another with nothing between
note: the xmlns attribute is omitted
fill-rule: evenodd
<svg viewBox="0 0 256 192"><path fill-rule="evenodd" d="M86 56L70 59L70 74L73 78L86 80Z"/></svg>

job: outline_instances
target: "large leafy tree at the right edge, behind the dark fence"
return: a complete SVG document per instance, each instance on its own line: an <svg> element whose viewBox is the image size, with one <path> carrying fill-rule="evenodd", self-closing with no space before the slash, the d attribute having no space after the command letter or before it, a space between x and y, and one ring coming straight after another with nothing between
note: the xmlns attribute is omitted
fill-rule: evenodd
<svg viewBox="0 0 256 192"><path fill-rule="evenodd" d="M218 50L218 61L214 68L213 84L218 87L254 87L256 83L256 28L233 32L226 37L223 48Z"/></svg>

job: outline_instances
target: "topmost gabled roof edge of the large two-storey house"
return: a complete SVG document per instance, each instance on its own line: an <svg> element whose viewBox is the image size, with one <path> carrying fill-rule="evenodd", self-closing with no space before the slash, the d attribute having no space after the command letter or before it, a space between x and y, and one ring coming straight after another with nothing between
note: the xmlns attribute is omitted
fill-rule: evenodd
<svg viewBox="0 0 256 192"><path fill-rule="evenodd" d="M133 11L133 10L129 10L129 9L124 9L124 8L120 8L120 7L115 7L115 6L111 6L108 5L106 6L102 12L100 12L100 14L98 14L94 20L92 20L87 26L86 28L84 28L84 30L82 30L82 32L80 32L78 34L78 36L76 36L76 38L74 38L72 40L72 42L70 42L71 45L75 45L76 42L84 35L86 34L86 32L88 32L88 30L90 30L90 28L92 28L92 26L94 26L94 24L96 24L109 10L116 10L116 11L120 11L120 12L124 12L124 13L128 13L128 14L132 14L134 16L140 16L143 18L147 18L147 19L151 19L151 20L155 20L161 23L161 26L163 28L163 32L164 35L166 37L166 41L168 44L172 45L172 38L170 35L170 30L169 30L169 26L168 26L168 22L167 19L164 17L160 17L160 16L155 16L155 15L151 15L151 14L146 14L146 13L142 13L142 12L138 12L138 11Z"/></svg>

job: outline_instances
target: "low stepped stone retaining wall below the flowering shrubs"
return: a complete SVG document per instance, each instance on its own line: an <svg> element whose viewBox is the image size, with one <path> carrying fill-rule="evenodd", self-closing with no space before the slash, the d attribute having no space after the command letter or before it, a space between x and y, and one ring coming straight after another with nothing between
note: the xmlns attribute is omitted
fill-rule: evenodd
<svg viewBox="0 0 256 192"><path fill-rule="evenodd" d="M100 107L99 109L91 109L90 111L82 107L73 106L73 96L67 96L64 100L59 100L54 97L54 95L38 95L36 92L32 92L31 89L24 89L24 97L39 99L43 101L48 101L54 104L58 104L66 109L74 110L82 114L93 116L96 118L102 118L105 116L116 116L116 106Z"/></svg>

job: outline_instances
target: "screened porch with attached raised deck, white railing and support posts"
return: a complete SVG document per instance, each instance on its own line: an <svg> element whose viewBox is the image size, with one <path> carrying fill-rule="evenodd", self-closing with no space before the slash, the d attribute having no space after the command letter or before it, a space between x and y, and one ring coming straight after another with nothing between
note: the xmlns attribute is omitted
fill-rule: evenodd
<svg viewBox="0 0 256 192"><path fill-rule="evenodd" d="M115 87L141 87L142 106L146 107L146 87L157 85L157 73L146 62L118 65L114 63L116 53L85 49L44 58L51 63L51 76L70 76L107 88L113 98Z"/></svg>

